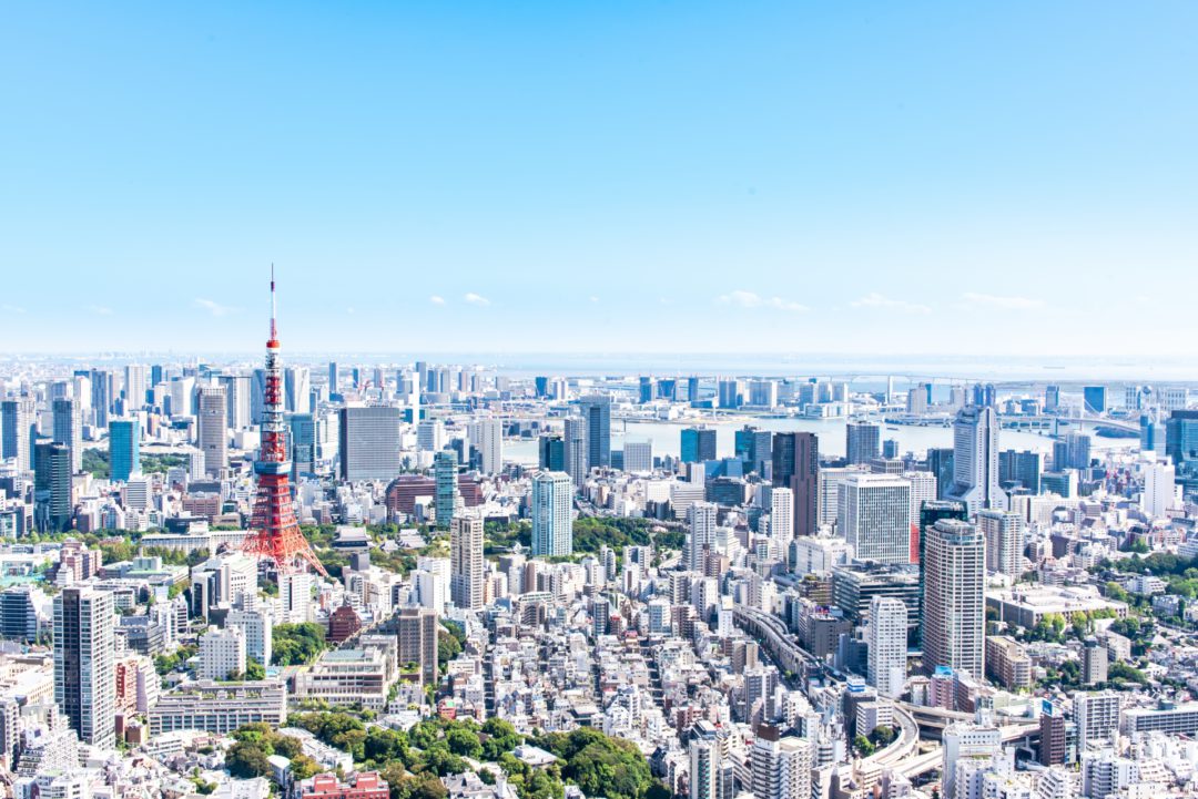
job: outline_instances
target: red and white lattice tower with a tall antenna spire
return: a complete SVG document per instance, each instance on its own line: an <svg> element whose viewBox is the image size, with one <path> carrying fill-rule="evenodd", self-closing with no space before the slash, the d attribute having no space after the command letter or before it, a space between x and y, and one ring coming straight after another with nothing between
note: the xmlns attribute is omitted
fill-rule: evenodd
<svg viewBox="0 0 1198 799"><path fill-rule="evenodd" d="M253 529L242 549L248 555L270 557L279 573L298 572L304 563L328 577L308 539L300 531L288 472L286 431L283 423L283 370L279 366L279 334L274 322L274 267L271 267L271 340L266 342L266 386L262 397L262 446L254 462L258 490L254 495Z"/></svg>

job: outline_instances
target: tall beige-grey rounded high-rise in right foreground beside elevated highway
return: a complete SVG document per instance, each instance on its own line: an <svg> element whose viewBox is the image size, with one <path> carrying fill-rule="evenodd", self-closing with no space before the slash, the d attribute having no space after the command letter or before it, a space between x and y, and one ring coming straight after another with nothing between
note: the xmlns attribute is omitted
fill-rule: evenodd
<svg viewBox="0 0 1198 799"><path fill-rule="evenodd" d="M922 531L924 669L968 671L984 678L986 657L986 539L968 522L940 519Z"/></svg>

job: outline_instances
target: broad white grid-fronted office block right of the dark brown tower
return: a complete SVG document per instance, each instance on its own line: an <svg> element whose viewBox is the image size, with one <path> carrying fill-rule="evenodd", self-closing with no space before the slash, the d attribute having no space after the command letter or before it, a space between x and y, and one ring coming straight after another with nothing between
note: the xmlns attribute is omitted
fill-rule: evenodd
<svg viewBox="0 0 1198 799"><path fill-rule="evenodd" d="M909 563L910 483L894 475L846 476L836 530L858 560Z"/></svg>

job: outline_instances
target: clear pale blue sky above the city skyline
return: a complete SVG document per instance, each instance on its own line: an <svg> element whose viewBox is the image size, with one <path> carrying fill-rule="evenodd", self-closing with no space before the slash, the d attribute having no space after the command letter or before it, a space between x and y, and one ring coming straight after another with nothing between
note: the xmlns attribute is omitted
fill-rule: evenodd
<svg viewBox="0 0 1198 799"><path fill-rule="evenodd" d="M53 2L0 350L1193 358L1198 4Z"/></svg>

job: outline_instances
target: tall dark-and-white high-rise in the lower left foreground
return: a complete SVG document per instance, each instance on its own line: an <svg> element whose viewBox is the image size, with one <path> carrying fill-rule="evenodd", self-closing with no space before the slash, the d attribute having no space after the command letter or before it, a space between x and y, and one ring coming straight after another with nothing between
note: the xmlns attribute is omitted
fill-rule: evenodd
<svg viewBox="0 0 1198 799"><path fill-rule="evenodd" d="M113 594L63 588L54 597L54 701L84 743L116 746Z"/></svg>

